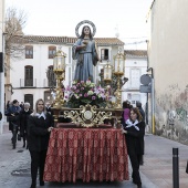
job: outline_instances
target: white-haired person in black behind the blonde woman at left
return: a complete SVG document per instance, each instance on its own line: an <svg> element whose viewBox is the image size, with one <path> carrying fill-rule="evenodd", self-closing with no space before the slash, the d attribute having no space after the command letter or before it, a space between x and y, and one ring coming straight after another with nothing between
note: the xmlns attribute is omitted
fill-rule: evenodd
<svg viewBox="0 0 188 188"><path fill-rule="evenodd" d="M30 103L24 103L23 106L24 106L23 109L21 109L20 112L20 135L21 137L23 137L23 147L25 147L25 142L28 137L28 118L32 111L30 109Z"/></svg>

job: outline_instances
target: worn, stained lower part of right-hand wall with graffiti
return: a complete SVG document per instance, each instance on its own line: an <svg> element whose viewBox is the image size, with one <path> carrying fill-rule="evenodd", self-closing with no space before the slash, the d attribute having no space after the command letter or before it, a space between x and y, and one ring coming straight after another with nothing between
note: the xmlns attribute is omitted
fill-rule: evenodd
<svg viewBox="0 0 188 188"><path fill-rule="evenodd" d="M180 91L174 84L156 98L156 134L188 145L188 85Z"/></svg>

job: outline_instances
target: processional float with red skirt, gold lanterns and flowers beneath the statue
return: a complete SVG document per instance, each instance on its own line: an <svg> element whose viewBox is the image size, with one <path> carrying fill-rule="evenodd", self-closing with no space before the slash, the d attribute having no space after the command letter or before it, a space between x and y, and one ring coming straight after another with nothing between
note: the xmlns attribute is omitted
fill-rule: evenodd
<svg viewBox="0 0 188 188"><path fill-rule="evenodd" d="M91 21L82 21L75 30L77 38L79 28L84 23L93 27L93 35L96 31ZM88 42L85 43L88 45ZM86 77L85 81L75 80L66 87L62 84L65 79L65 53L59 49L53 61L56 88L52 109L56 128L50 137L44 180L127 180L127 150L121 130L121 88L127 81L122 80L125 55L118 52L113 66L109 62L104 65L98 85ZM60 117L69 118L71 123L60 123Z"/></svg>

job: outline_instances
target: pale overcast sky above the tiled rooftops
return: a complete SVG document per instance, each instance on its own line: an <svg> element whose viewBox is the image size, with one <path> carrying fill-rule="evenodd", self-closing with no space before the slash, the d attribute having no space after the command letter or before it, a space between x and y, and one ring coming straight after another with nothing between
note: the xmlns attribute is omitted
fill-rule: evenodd
<svg viewBox="0 0 188 188"><path fill-rule="evenodd" d="M6 7L24 10L24 34L75 36L75 27L90 20L96 38L114 38L125 43L148 36L146 15L153 0L6 0ZM137 48L137 45L135 46Z"/></svg>

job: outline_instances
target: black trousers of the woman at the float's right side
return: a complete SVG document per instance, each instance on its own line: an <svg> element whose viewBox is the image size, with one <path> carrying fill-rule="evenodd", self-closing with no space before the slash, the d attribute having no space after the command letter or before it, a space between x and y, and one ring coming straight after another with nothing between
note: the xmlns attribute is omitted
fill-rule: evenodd
<svg viewBox="0 0 188 188"><path fill-rule="evenodd" d="M142 185L142 180L140 180L140 176L139 176L139 163L140 163L140 155L129 155L129 159L130 159L130 164L132 164L132 168L133 168L133 174L132 174L132 178L133 181L140 186Z"/></svg>

